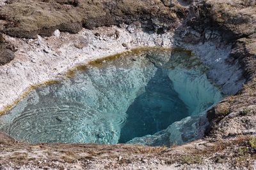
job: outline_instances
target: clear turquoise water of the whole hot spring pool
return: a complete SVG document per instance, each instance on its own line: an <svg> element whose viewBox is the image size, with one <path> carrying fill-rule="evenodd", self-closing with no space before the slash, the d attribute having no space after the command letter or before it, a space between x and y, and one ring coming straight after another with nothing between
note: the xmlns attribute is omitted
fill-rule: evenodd
<svg viewBox="0 0 256 170"><path fill-rule="evenodd" d="M205 71L182 50L130 53L31 91L0 130L29 143L126 143L220 101Z"/></svg>

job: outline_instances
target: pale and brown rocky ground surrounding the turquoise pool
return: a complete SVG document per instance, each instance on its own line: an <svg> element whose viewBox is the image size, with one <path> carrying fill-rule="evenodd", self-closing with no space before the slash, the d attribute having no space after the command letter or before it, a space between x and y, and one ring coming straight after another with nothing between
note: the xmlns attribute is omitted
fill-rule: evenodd
<svg viewBox="0 0 256 170"><path fill-rule="evenodd" d="M216 51L229 46L225 62L238 63L243 69L239 78L245 79L236 95L208 111L210 125L202 140L170 148L29 145L1 134L1 169L256 169L255 1L11 0L0 4L2 113L36 84L61 80L77 64L138 46L194 48L208 41Z"/></svg>

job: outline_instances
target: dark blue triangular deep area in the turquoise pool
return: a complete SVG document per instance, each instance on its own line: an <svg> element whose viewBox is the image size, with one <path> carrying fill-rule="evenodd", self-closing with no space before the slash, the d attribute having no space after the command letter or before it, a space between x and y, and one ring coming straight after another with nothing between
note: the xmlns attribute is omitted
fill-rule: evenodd
<svg viewBox="0 0 256 170"><path fill-rule="evenodd" d="M134 100L126 113L127 122L122 127L118 143L154 134L189 115L164 69L156 71L145 92Z"/></svg>

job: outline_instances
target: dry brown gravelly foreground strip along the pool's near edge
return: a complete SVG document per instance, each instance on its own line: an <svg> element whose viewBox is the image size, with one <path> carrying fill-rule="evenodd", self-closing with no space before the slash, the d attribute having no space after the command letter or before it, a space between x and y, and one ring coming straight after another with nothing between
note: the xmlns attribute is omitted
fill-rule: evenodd
<svg viewBox="0 0 256 170"><path fill-rule="evenodd" d="M0 133L1 169L255 169L256 138L182 146L19 143ZM254 163L253 163L254 162Z"/></svg>

